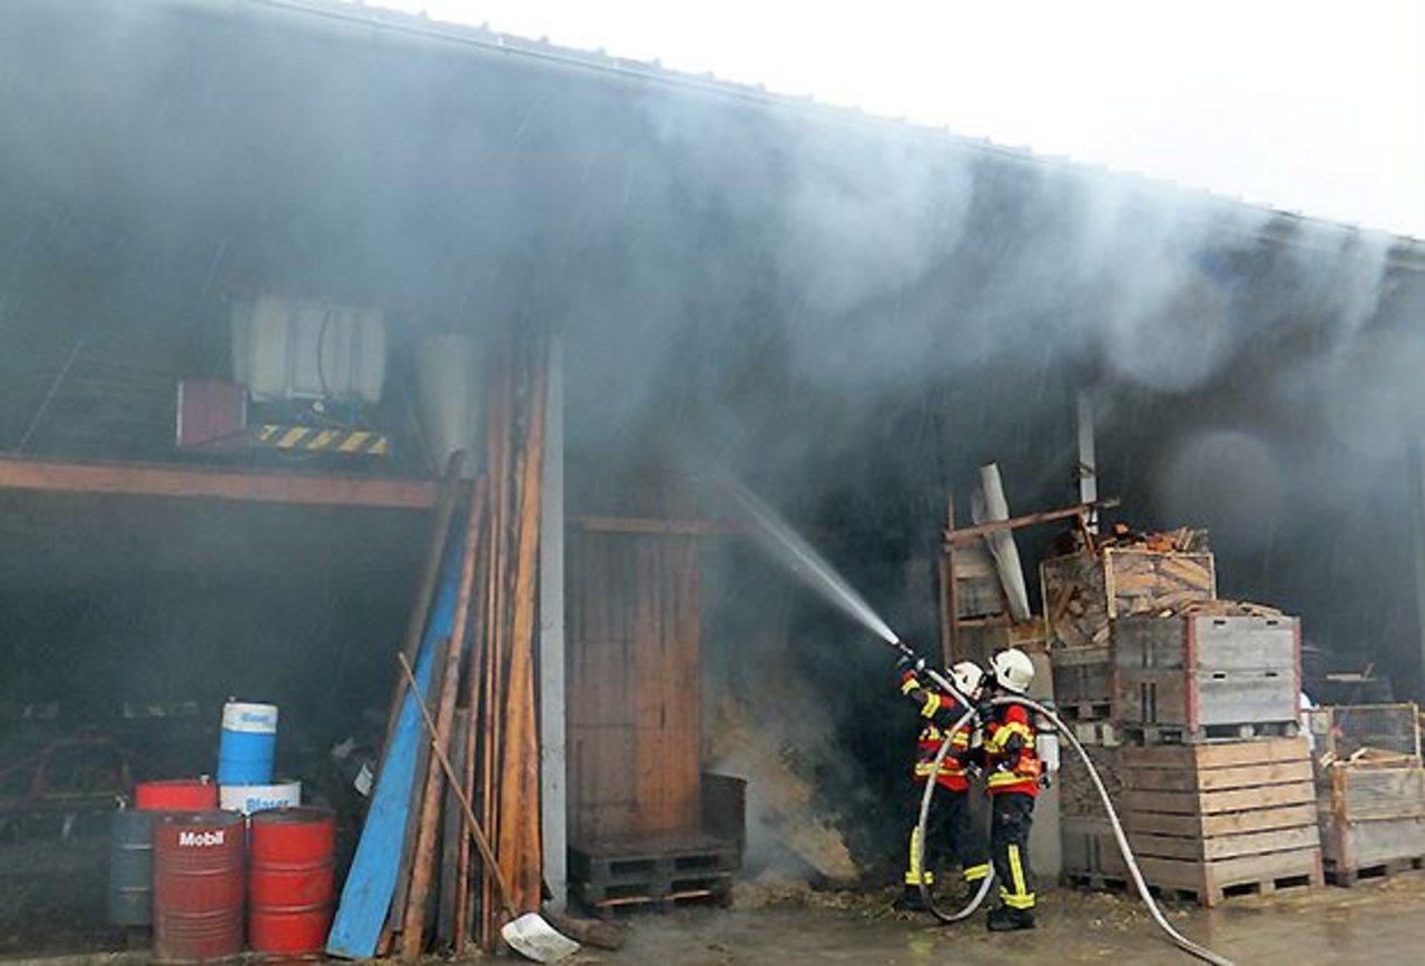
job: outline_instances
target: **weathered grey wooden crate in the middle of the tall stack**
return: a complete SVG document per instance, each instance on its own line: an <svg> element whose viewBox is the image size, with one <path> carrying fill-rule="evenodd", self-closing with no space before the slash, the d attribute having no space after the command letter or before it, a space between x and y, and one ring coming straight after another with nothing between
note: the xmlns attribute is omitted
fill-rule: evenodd
<svg viewBox="0 0 1425 966"><path fill-rule="evenodd" d="M1291 617L1126 617L1116 621L1114 710L1126 728L1196 742L1295 734L1300 624Z"/></svg>

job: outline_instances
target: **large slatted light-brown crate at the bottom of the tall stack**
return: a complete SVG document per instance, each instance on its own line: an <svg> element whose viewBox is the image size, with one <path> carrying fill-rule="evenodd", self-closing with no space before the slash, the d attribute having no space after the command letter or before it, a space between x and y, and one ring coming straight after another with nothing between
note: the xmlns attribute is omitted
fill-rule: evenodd
<svg viewBox="0 0 1425 966"><path fill-rule="evenodd" d="M1321 885L1302 738L1124 747L1124 825L1143 876L1214 906L1235 892Z"/></svg>

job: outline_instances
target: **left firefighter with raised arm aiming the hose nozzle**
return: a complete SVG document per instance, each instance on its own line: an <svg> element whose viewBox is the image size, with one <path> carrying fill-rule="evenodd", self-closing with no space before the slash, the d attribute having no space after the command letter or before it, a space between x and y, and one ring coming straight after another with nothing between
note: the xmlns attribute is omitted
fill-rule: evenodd
<svg viewBox="0 0 1425 966"><path fill-rule="evenodd" d="M923 789L925 782L932 778L935 758L945 742L945 735L955 725L968 708L959 704L952 695L940 691L932 681L923 681L918 671L923 671L923 661L901 663L901 694L911 698L925 720L925 727L916 739L915 786ZM983 694L985 672L970 661L962 661L950 668L950 681L970 702ZM923 908L921 883L928 888L935 886L935 868L943 866L949 859L960 863L960 875L969 889L979 888L980 881L989 875L989 856L985 849L985 839L969 812L969 777L968 767L972 752L970 734L973 722L959 729L950 741L950 751L940 762L939 774L933 775L939 785L936 801L931 808L931 819L926 826L928 841L921 849L919 819L921 794L915 796L916 809L911 822L909 858L905 871L905 898L902 906L909 909ZM923 851L922 856L918 852Z"/></svg>

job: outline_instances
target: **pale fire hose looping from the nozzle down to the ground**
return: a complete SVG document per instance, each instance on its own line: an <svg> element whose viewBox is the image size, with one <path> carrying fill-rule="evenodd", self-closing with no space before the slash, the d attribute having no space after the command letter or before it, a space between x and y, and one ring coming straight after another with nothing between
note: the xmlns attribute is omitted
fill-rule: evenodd
<svg viewBox="0 0 1425 966"><path fill-rule="evenodd" d="M892 647L896 648L903 657L921 664L915 651L906 647L905 643L896 641L892 644ZM945 739L940 742L940 751L939 754L936 754L935 765L931 769L931 775L938 775L940 772L940 765L945 761L945 757L950 751L950 739L958 732L968 729L970 721L978 718L979 712L975 710L969 698L960 694L960 691L953 684L950 684L950 681L948 681L943 674L939 674L932 667L925 667L923 670L938 688L940 688L942 691L953 697L956 701L959 701L960 707L968 708L968 711L960 717L959 721L955 722L955 725L946 732ZM1183 933L1180 933L1177 929L1173 928L1173 923L1167 920L1167 916L1163 915L1163 910L1159 908L1157 902L1153 899L1153 895L1149 892L1147 882L1144 882L1143 879L1143 872L1139 869L1139 863L1133 855L1133 849L1129 848L1129 836L1123 832L1123 824L1119 821L1119 814L1113 808L1113 801L1109 798L1109 789L1103 786L1103 779L1099 778L1099 771L1093 767L1093 761L1089 758L1089 752L1084 751L1083 745L1079 742L1079 738L1076 738L1074 734L1064 727L1064 722L1059 720L1059 715L1056 715L1053 711L1039 704L1037 701L1032 701L1023 697L999 697L993 698L990 704L993 705L1020 704L1029 708L1030 711L1047 718L1049 722L1053 724L1053 727L1059 731L1059 734L1069 739L1070 747L1079 754L1080 761L1083 761L1083 767L1087 769L1089 778L1093 779L1093 786L1099 792L1099 799L1103 802L1103 808L1109 814L1109 825L1113 828L1113 839L1119 845L1119 852L1123 855L1123 862L1129 868L1129 875L1133 878L1133 885L1134 888L1137 888L1139 896L1141 896L1143 903L1149 908L1149 913L1153 916L1153 922L1157 923L1159 929L1161 929L1167 935L1167 938L1173 942L1174 946L1177 946L1187 955L1194 956L1206 963L1213 963L1214 966L1234 966L1233 960L1226 959L1224 956L1218 956L1211 949L1207 949L1206 946L1201 946L1188 939L1187 936L1184 936ZM926 836L926 826L931 818L931 799L935 796L935 789L936 789L936 782L926 781L925 792L921 795L921 815L919 815L919 822L916 825L918 833L915 836L915 868L918 869L925 868L925 836ZM923 876L919 883L921 898L925 900L926 908L931 909L931 912L935 913L935 918L939 919L940 922L948 922L948 923L959 922L962 919L975 915L975 910L979 909L980 903L985 900L985 896L989 895L989 886L992 879L993 876L985 876L985 879L980 882L979 890L973 896L970 896L970 900L965 905L965 908L953 913L946 913L935 905Z"/></svg>

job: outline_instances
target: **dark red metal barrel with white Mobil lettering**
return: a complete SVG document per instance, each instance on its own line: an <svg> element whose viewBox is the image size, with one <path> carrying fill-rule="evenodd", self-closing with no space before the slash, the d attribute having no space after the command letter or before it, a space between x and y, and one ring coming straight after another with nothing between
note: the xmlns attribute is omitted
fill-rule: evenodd
<svg viewBox="0 0 1425 966"><path fill-rule="evenodd" d="M242 815L162 812L154 822L154 957L168 963L242 952Z"/></svg>

